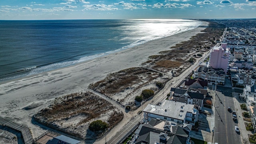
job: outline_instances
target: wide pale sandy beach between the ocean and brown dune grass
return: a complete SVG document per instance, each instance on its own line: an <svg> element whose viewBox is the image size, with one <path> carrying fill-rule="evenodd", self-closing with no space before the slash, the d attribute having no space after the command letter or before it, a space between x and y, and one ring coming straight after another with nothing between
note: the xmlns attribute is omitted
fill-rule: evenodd
<svg viewBox="0 0 256 144"><path fill-rule="evenodd" d="M42 108L48 107L59 96L74 92L86 92L91 83L100 81L110 72L131 67L140 67L148 56L156 55L160 51L170 50L171 46L187 41L192 36L204 30L208 22L194 30L174 34L172 36L153 40L145 44L129 48L120 52L101 56L93 60L76 65L44 72L41 74L14 79L0 83L0 116L28 126L34 138L41 135L46 129L32 124L32 116ZM125 117L131 114L125 114ZM130 120L123 120L113 132Z"/></svg>

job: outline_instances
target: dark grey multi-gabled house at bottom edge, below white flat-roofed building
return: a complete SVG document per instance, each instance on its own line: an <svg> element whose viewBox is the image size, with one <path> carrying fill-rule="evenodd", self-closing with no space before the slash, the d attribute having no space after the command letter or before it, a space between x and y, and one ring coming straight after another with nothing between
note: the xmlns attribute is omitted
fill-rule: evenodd
<svg viewBox="0 0 256 144"><path fill-rule="evenodd" d="M129 144L191 144L192 125L177 126L173 122L151 118L134 132Z"/></svg>

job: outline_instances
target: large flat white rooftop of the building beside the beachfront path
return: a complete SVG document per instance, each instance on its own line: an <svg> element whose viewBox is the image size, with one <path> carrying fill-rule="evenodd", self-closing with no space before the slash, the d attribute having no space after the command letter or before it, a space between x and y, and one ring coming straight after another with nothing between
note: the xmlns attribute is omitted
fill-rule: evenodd
<svg viewBox="0 0 256 144"><path fill-rule="evenodd" d="M196 111L197 110L194 109L194 104L185 104L172 100L164 100L160 106L148 104L148 106L143 110L143 112L175 118L178 120L184 120L187 112L196 114Z"/></svg>

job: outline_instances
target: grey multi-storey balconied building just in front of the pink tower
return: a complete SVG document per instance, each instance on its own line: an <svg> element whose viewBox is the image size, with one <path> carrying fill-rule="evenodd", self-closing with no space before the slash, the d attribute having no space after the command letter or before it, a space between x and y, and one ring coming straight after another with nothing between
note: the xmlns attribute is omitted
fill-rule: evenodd
<svg viewBox="0 0 256 144"><path fill-rule="evenodd" d="M200 66L196 72L194 72L193 77L206 80L208 84L224 84L226 74L221 68Z"/></svg>

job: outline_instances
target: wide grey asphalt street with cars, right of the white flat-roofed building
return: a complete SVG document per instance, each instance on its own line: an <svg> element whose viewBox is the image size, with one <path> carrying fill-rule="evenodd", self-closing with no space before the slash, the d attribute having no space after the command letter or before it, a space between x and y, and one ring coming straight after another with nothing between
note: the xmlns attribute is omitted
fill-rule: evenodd
<svg viewBox="0 0 256 144"><path fill-rule="evenodd" d="M232 88L217 86L215 102L214 142L218 144L242 144L240 133L235 132L238 121L232 119L228 107L234 109Z"/></svg>

